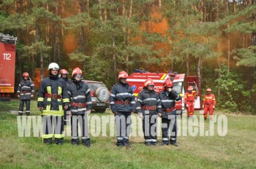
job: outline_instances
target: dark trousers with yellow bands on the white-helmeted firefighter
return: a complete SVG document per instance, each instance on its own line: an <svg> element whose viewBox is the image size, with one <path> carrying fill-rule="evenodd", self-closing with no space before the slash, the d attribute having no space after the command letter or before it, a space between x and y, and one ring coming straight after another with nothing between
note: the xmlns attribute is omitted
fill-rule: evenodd
<svg viewBox="0 0 256 169"><path fill-rule="evenodd" d="M64 138L63 116L42 116L42 138L45 144L51 144L54 135L55 143L62 144Z"/></svg>

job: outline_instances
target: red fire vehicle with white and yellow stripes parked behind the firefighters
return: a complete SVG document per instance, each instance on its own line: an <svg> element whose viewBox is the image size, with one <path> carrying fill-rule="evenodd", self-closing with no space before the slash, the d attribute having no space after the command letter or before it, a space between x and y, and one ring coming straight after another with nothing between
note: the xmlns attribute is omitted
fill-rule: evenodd
<svg viewBox="0 0 256 169"><path fill-rule="evenodd" d="M135 94L135 97L137 98L138 93L140 93L141 90L143 90L144 82L146 79L151 78L154 81L154 90L159 93L160 91L164 90L164 82L167 78L170 78L170 80L173 82L173 90L176 90L176 92L181 95L181 101L176 101L176 110L177 114L182 114L183 111L185 111L185 105L184 105L184 93L187 90L187 87L192 86L194 88L193 92L196 92L196 98L195 98L195 109L200 110L201 109L201 102L200 102L200 87L199 82L197 79L197 76L187 76L186 79L186 85L184 82L185 74L173 74L173 73L149 73L145 71L140 71L140 73L133 73L129 75L127 79L127 83L132 87L133 93Z"/></svg>

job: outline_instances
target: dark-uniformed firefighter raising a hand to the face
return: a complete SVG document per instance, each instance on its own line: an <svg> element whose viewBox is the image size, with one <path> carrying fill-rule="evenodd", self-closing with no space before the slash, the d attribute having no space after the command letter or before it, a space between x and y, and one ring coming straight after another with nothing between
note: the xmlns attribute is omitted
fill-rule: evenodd
<svg viewBox="0 0 256 169"><path fill-rule="evenodd" d="M177 140L177 114L175 101L181 100L181 97L173 90L173 82L166 79L164 83L165 90L158 93L162 103L162 146L173 144L178 146ZM168 130L170 128L170 136ZM170 142L169 142L170 140Z"/></svg>

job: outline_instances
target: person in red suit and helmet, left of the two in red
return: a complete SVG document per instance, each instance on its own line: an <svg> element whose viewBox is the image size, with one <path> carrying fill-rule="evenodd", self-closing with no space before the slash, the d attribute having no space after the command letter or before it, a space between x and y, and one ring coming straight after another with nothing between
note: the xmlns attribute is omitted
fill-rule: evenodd
<svg viewBox="0 0 256 169"><path fill-rule="evenodd" d="M192 93L193 87L189 86L187 88L187 93L185 93L184 101L187 107L187 117L192 117L194 115L194 103L195 103L195 97Z"/></svg>

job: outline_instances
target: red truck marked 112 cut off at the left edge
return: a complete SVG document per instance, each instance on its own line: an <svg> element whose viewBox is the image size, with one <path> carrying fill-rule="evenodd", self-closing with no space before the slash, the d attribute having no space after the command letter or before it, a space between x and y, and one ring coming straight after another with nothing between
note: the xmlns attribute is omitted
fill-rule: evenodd
<svg viewBox="0 0 256 169"><path fill-rule="evenodd" d="M0 98L14 93L16 42L17 37L0 33Z"/></svg>

